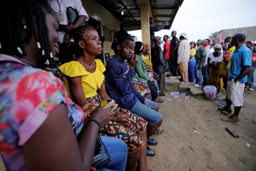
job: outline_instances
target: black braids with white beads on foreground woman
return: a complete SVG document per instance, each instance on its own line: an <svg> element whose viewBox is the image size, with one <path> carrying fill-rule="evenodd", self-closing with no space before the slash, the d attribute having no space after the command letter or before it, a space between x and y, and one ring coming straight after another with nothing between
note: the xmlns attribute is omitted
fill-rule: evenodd
<svg viewBox="0 0 256 171"><path fill-rule="evenodd" d="M48 2L46 0L15 2L3 0L1 3L3 8L0 10L2 23L0 53L23 58L26 55L24 45L33 36L45 60L45 63L40 63L40 67L46 68L54 64L45 17L45 14L54 14L54 11Z"/></svg>

